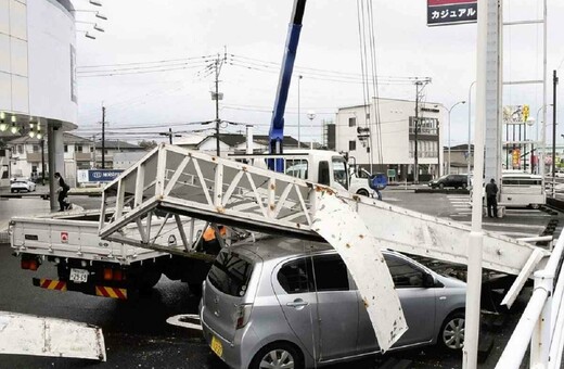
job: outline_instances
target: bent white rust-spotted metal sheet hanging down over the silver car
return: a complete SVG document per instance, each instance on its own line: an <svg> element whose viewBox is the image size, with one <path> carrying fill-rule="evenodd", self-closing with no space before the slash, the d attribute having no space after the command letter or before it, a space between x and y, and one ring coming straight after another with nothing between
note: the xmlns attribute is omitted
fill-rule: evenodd
<svg viewBox="0 0 564 369"><path fill-rule="evenodd" d="M360 215L328 189L316 191L312 229L341 254L360 291L382 351L408 330L389 269L380 252L389 242L374 238Z"/></svg>

